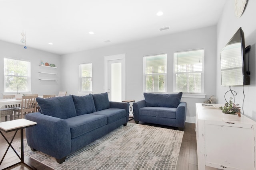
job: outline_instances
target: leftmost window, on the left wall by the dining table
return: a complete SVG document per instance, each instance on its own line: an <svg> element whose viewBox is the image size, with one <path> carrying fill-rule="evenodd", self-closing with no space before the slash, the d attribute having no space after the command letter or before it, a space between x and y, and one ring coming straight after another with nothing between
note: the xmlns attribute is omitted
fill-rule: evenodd
<svg viewBox="0 0 256 170"><path fill-rule="evenodd" d="M30 62L4 58L4 92L30 92Z"/></svg>

